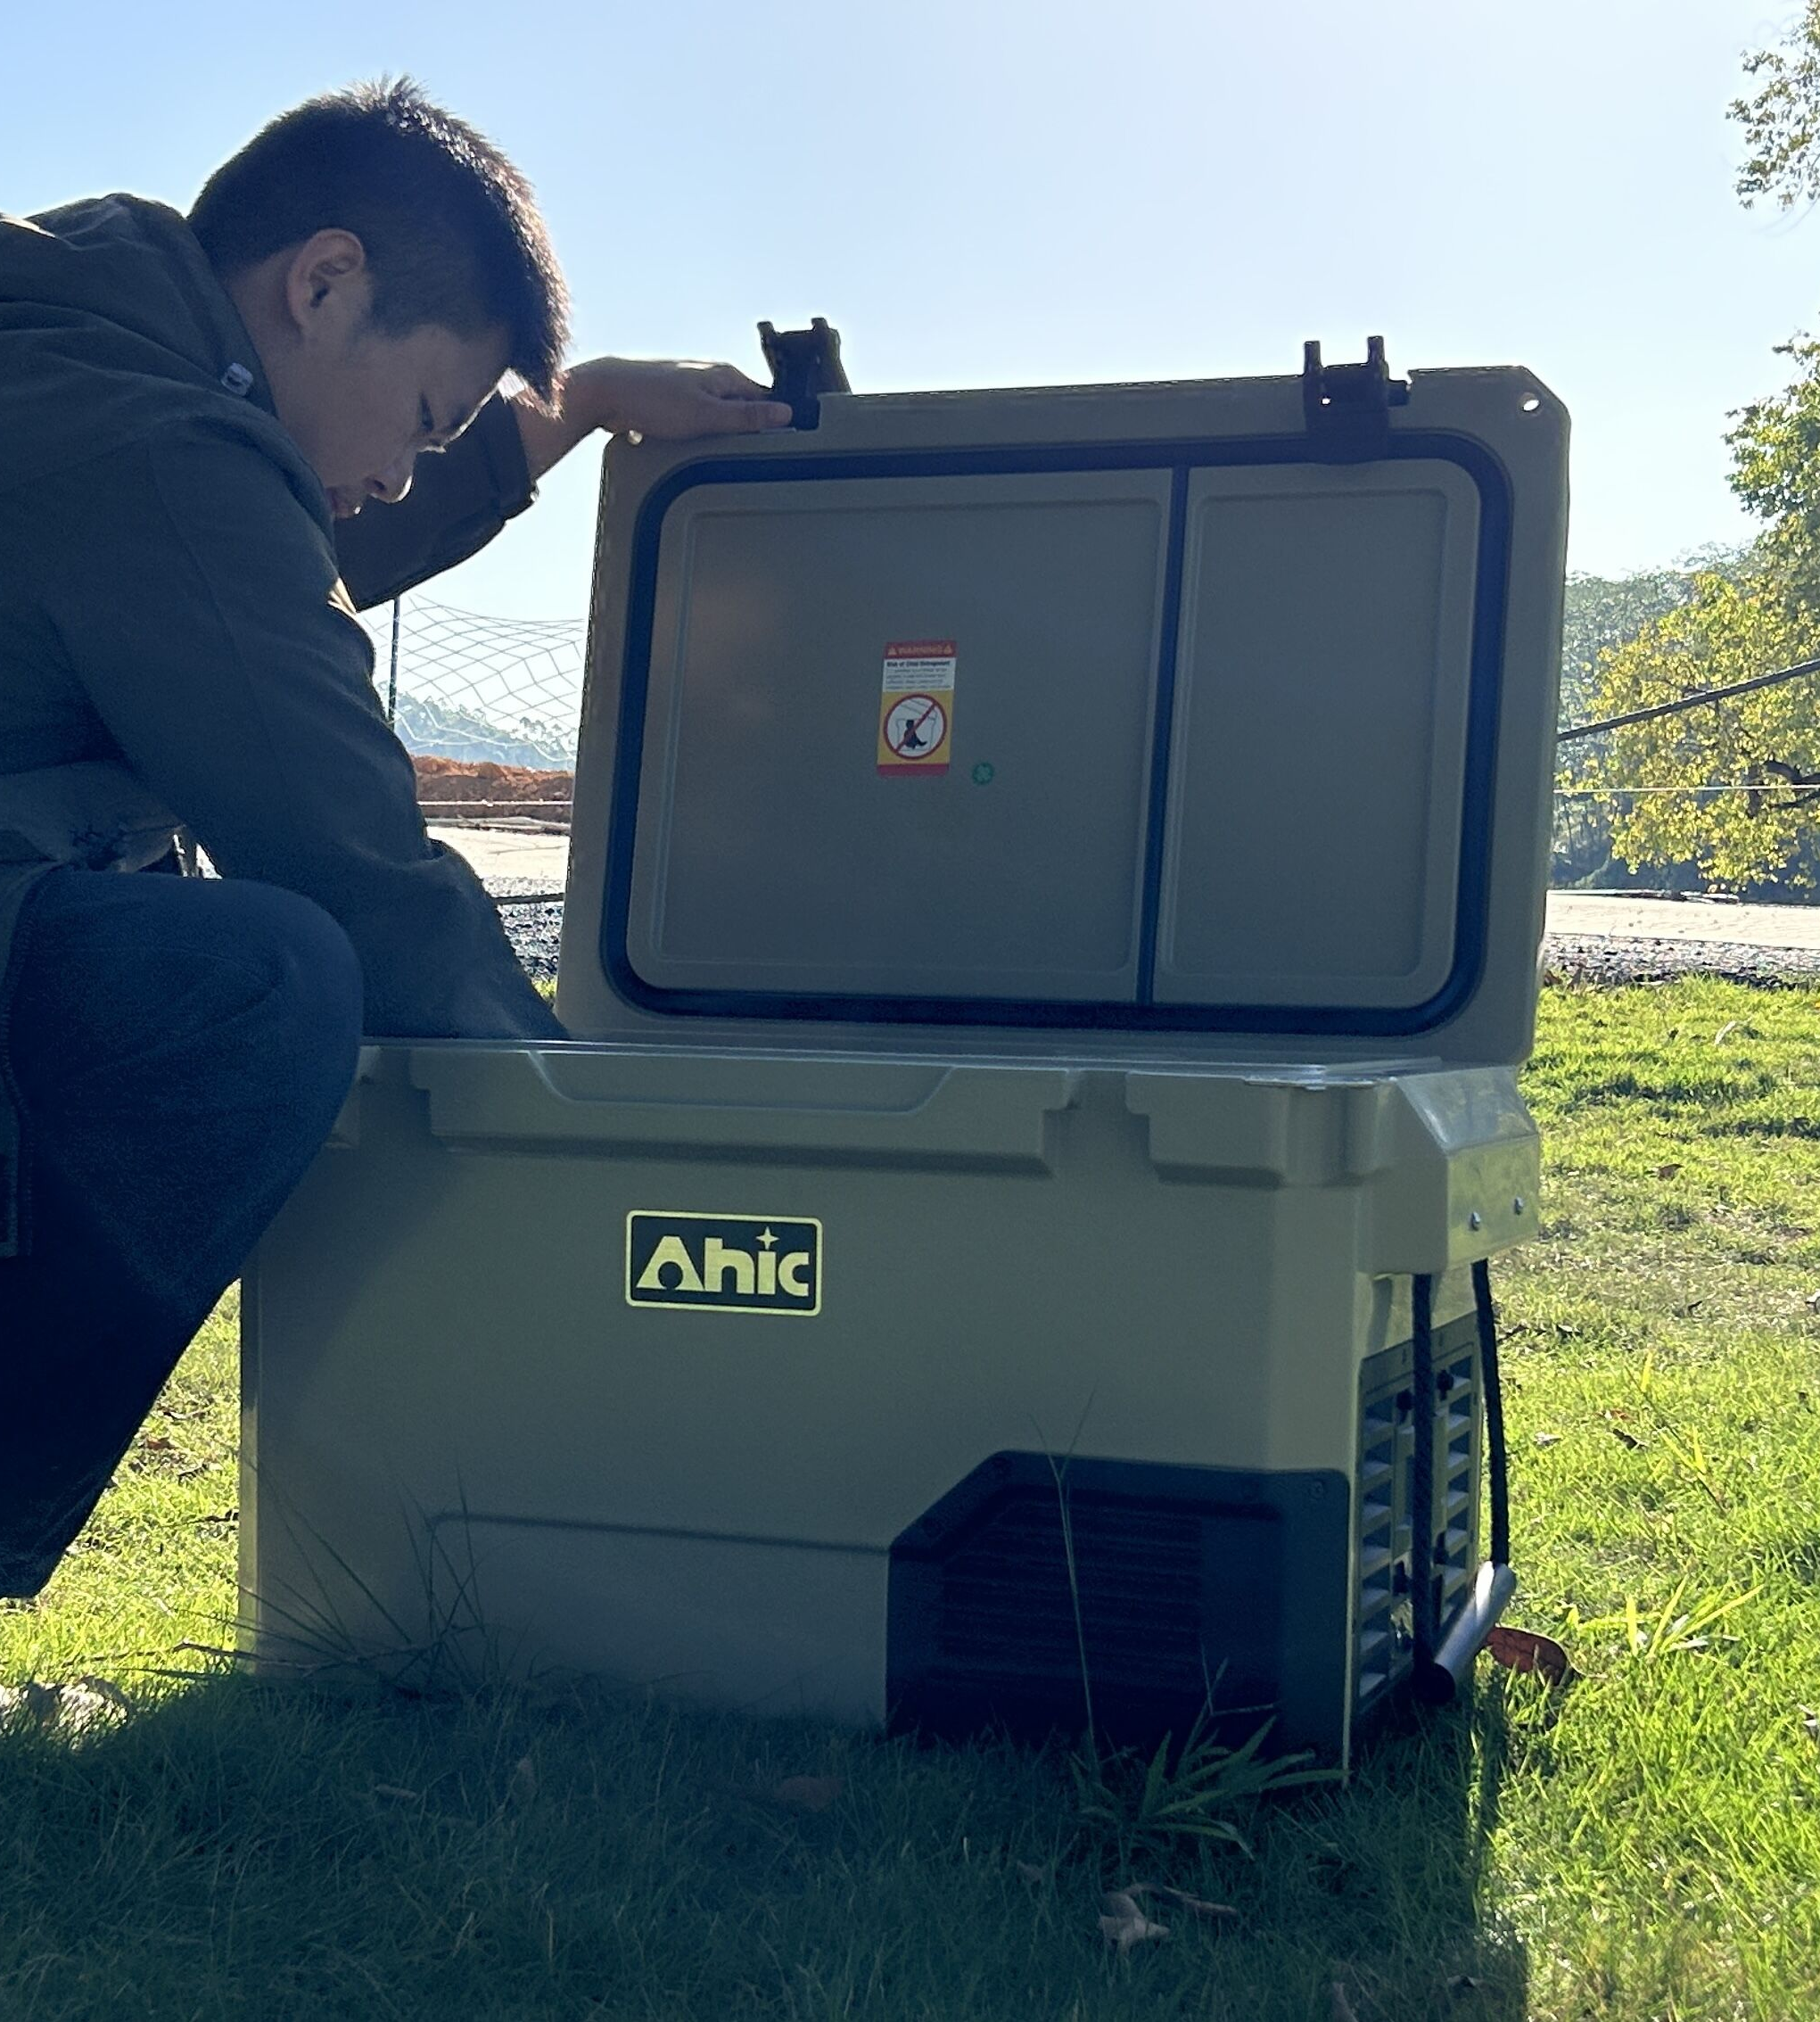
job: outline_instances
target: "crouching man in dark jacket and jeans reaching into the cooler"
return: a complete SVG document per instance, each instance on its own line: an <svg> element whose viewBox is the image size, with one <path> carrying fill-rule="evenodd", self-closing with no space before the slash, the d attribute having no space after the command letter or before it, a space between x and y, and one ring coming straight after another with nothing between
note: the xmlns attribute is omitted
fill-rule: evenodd
<svg viewBox="0 0 1820 2022"><path fill-rule="evenodd" d="M732 366L564 376L566 334L528 184L411 83L275 119L188 218L0 218L0 1595L81 1531L362 1033L562 1037L425 835L356 611L595 429L789 423ZM218 880L121 876L178 829Z"/></svg>

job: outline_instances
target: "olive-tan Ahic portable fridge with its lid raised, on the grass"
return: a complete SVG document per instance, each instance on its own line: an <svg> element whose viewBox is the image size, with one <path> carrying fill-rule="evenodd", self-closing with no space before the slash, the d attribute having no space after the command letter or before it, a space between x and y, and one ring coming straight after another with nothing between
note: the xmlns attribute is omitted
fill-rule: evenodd
<svg viewBox="0 0 1820 2022"><path fill-rule="evenodd" d="M370 1049L261 1244L247 1644L1345 1763L1484 1610L1565 415L815 394L609 449L574 1041Z"/></svg>

